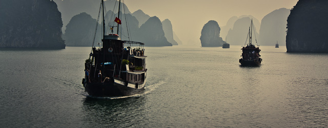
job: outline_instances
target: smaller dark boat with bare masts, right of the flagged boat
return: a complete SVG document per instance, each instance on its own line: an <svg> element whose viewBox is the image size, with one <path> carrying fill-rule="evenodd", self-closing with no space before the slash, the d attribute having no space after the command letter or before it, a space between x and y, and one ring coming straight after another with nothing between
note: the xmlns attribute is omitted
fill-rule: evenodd
<svg viewBox="0 0 328 128"><path fill-rule="evenodd" d="M252 44L252 32L253 32L254 27L253 27L253 19L251 21L251 26L249 28L249 33L248 33L248 40L249 40L249 44L247 44L246 47L242 47L242 58L239 59L239 62L241 64L241 66L260 66L261 65L261 61L262 58L260 58L260 49L258 47L255 47ZM255 37L255 41L256 41L256 37ZM257 43L257 42L256 42ZM246 42L245 42L246 44Z"/></svg>

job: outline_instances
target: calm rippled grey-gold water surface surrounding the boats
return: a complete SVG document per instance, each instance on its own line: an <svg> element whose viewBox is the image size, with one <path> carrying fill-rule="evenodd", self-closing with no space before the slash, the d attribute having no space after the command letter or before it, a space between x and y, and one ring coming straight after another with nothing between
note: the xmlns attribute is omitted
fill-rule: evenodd
<svg viewBox="0 0 328 128"><path fill-rule="evenodd" d="M1 127L328 127L328 54L260 46L261 67L239 66L240 46L146 48L142 94L90 98L87 47L0 50Z"/></svg>

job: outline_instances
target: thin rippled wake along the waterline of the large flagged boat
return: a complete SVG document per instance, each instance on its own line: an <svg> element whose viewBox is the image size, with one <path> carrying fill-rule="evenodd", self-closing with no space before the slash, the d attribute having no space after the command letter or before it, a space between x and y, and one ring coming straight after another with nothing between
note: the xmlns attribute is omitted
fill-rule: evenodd
<svg viewBox="0 0 328 128"><path fill-rule="evenodd" d="M82 94L82 95L84 95L86 97L90 97L90 98L97 98L97 99L123 99L123 98L129 98L129 97L140 97L140 96L147 95L147 94L153 92L154 90L156 90L156 88L158 86L160 86L164 83L165 83L165 81L159 81L158 83L151 84L150 86L146 86L144 91L134 94L134 95L130 95L130 96L97 97L97 96L90 96L87 93Z"/></svg>

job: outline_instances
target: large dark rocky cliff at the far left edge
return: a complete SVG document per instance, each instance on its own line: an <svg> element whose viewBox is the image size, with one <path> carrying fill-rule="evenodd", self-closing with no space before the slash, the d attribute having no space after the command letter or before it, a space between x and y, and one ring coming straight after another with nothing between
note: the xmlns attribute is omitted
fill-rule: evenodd
<svg viewBox="0 0 328 128"><path fill-rule="evenodd" d="M0 10L1 48L65 48L61 14L53 1L2 1Z"/></svg>

